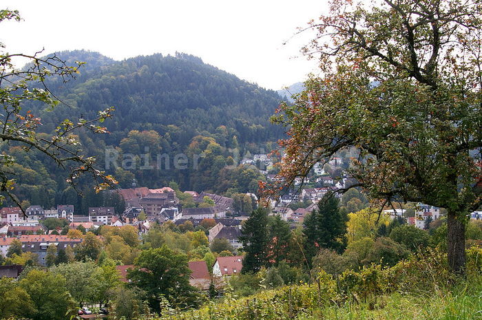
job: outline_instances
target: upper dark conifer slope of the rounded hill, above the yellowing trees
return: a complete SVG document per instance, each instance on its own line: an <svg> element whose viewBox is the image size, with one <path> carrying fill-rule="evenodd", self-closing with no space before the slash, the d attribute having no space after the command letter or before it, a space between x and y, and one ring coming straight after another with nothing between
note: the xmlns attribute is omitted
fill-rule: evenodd
<svg viewBox="0 0 482 320"><path fill-rule="evenodd" d="M112 132L109 144L120 142L132 129L154 129L163 135L169 131L167 125L180 129L180 144L202 131L214 133L221 125L239 142L280 137L280 127L269 122L281 99L276 92L242 81L195 56L154 54L118 62L92 52L61 52L59 56L87 63L76 81L52 83L54 92L70 105L48 114L52 125L66 115L87 118L114 106L115 117L106 122Z"/></svg>

